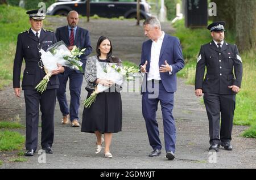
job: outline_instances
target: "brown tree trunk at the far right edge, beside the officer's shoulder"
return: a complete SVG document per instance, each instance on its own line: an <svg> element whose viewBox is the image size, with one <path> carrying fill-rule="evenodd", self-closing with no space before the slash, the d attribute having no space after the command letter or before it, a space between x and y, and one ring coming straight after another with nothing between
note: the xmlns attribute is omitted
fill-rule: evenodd
<svg viewBox="0 0 256 180"><path fill-rule="evenodd" d="M236 42L240 52L255 48L255 0L236 0Z"/></svg>

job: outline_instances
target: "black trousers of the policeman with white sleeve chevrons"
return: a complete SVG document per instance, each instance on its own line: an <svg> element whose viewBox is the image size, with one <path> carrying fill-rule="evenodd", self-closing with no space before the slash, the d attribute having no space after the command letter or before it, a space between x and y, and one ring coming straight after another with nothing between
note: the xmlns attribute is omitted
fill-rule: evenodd
<svg viewBox="0 0 256 180"><path fill-rule="evenodd" d="M210 144L230 142L232 140L236 95L204 93L204 104L209 120Z"/></svg>

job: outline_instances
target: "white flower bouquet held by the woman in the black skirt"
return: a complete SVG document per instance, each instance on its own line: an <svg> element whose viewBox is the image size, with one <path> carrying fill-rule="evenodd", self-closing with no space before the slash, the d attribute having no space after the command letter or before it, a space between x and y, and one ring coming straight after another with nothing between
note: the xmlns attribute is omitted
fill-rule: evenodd
<svg viewBox="0 0 256 180"><path fill-rule="evenodd" d="M111 80L113 83L122 85L123 78L125 80L134 80L135 76L138 76L139 69L133 66L120 66L117 63L105 63L96 62L97 66L97 78ZM95 90L92 92L90 97L82 102L85 108L90 108L90 105L95 102L98 93L109 89L109 86L104 86L102 84L97 84Z"/></svg>

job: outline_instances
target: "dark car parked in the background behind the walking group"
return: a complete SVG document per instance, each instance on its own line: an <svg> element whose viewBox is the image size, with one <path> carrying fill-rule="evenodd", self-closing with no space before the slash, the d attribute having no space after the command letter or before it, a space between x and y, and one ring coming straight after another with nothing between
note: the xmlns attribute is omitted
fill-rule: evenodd
<svg viewBox="0 0 256 180"><path fill-rule="evenodd" d="M150 5L146 0L141 0L141 19L150 15ZM59 1L47 8L48 15L67 16L71 10L77 11L82 16L86 15L86 0ZM137 17L137 0L90 0L90 16L98 15L102 18Z"/></svg>

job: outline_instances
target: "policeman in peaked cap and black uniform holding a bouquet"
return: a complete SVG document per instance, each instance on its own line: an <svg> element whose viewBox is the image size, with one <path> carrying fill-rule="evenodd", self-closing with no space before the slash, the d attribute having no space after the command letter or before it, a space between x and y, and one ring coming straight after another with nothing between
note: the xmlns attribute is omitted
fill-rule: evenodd
<svg viewBox="0 0 256 180"><path fill-rule="evenodd" d="M31 28L18 35L13 68L13 87L15 96L20 97L20 71L24 58L26 68L23 72L22 89L26 103L27 151L25 156L33 156L38 147L39 105L42 112L41 145L46 153L52 153L56 89L59 88L59 79L56 74L64 72L64 68L58 65L57 69L52 72L46 91L42 94L36 91L36 85L46 75L40 59L40 49L46 51L57 41L52 31L42 28L44 13L39 12L39 10L32 10L27 11L27 14L30 17Z"/></svg>

